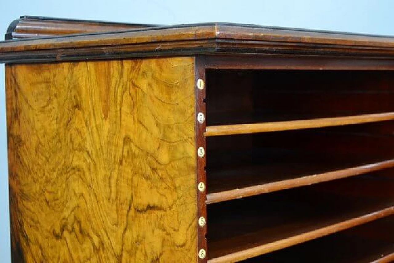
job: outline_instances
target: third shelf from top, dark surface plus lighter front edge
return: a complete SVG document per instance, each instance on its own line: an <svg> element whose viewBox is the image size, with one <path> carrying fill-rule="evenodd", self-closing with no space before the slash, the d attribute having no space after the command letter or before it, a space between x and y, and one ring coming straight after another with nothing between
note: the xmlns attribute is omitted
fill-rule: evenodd
<svg viewBox="0 0 394 263"><path fill-rule="evenodd" d="M208 262L240 261L394 214L391 181L344 180L344 188L360 188L351 195L318 184L210 205Z"/></svg>

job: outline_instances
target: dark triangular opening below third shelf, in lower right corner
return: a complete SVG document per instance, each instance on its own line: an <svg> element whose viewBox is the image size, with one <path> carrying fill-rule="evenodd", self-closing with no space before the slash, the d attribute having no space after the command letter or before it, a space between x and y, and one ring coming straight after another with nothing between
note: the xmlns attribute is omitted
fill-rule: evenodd
<svg viewBox="0 0 394 263"><path fill-rule="evenodd" d="M383 263L394 260L394 217L268 253L242 263Z"/></svg>

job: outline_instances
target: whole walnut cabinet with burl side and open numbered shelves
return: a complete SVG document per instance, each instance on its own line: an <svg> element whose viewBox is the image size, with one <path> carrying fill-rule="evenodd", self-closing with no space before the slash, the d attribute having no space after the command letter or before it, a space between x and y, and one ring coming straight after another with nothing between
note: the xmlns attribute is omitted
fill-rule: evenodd
<svg viewBox="0 0 394 263"><path fill-rule="evenodd" d="M394 261L394 38L11 23L13 262Z"/></svg>

